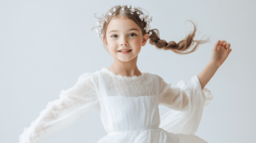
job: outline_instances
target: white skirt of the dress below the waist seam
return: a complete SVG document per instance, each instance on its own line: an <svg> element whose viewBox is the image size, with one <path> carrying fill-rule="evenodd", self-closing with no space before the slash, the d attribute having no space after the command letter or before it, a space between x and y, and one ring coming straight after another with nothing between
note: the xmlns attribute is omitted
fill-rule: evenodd
<svg viewBox="0 0 256 143"><path fill-rule="evenodd" d="M164 129L110 132L97 143L207 143L195 134L173 134Z"/></svg>

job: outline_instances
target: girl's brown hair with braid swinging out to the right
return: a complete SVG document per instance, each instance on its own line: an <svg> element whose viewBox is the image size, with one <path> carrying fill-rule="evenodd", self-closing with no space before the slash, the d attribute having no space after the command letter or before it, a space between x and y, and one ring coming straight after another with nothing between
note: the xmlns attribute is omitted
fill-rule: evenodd
<svg viewBox="0 0 256 143"><path fill-rule="evenodd" d="M114 13L112 11L113 8L116 9L116 11ZM146 34L144 27L147 25L147 23L144 20L142 21L139 18L139 15L137 14L137 11L140 14L144 14L143 11L141 11L140 9L134 8L136 12L131 14L131 9L127 9L127 5L124 5L125 10L122 10L122 7L120 5L114 6L113 8L108 10L108 12L112 13L111 16L108 15L108 12L105 14L106 18L108 19L108 22L111 20L111 17L117 16L117 15L125 16L125 17L129 18L130 20L133 20L137 24L137 26L140 27L140 29L143 31L143 35ZM191 20L189 20L189 21L191 21ZM105 22L104 25L102 26L103 41L107 40L106 39L106 31L107 31L108 22ZM207 38L207 40L194 40L196 26L194 23L193 23L193 25L194 25L195 30L178 43L175 43L174 41L167 43L166 40L160 39L160 36L159 36L160 32L158 29L151 29L150 31L152 31L152 34L151 34L151 36L148 37L149 43L154 45L157 49L172 50L176 54L192 53L195 51L195 49L197 49L199 44L209 42L208 41L209 38ZM183 52L183 51L186 51L187 49L189 49L194 44L194 42L196 44L192 50L190 50L189 52ZM105 47L104 43L103 43L103 45Z"/></svg>

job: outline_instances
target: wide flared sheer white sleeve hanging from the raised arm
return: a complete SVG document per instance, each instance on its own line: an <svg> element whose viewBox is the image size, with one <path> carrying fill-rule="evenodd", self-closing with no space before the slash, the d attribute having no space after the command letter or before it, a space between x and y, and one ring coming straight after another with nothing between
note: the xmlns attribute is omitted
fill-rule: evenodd
<svg viewBox="0 0 256 143"><path fill-rule="evenodd" d="M160 128L172 133L195 134L204 106L212 100L210 90L201 89L197 76L189 82L179 81L177 85L166 83L159 77L159 103L170 108L160 117Z"/></svg>

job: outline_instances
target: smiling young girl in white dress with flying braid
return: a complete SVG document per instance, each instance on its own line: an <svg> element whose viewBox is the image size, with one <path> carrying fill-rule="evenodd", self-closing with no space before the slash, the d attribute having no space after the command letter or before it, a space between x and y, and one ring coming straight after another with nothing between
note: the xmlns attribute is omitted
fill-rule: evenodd
<svg viewBox="0 0 256 143"><path fill-rule="evenodd" d="M97 18L94 28L112 54L113 65L84 73L72 88L61 91L60 99L49 102L20 134L20 143L42 142L93 110L100 112L108 132L98 143L206 142L194 135L203 107L212 100L211 92L204 87L230 54L230 44L215 43L201 73L187 83L172 85L157 74L140 72L137 56L148 38L157 49L189 54L200 43L207 43L194 40L196 28L179 43L167 43L160 39L157 29L150 28L152 17L142 8L118 5ZM183 52L194 42L194 49ZM159 105L169 107L170 112L160 117Z"/></svg>

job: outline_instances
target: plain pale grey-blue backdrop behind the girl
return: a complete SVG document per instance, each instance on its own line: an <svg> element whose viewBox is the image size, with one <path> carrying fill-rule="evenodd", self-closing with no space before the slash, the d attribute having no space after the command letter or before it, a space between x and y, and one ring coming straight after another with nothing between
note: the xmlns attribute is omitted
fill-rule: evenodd
<svg viewBox="0 0 256 143"><path fill-rule="evenodd" d="M209 143L253 143L256 140L256 1L254 0L1 0L0 1L0 142L18 142L25 127L47 103L59 98L84 72L113 63L96 37L93 14L118 4L147 9L160 38L179 42L193 25L195 39L211 37L192 54L175 54L149 43L138 56L139 70L166 82L186 82L199 74L214 43L226 40L232 52L207 83L213 99L205 107L196 135ZM205 37L204 37L205 36ZM160 115L168 111L160 106ZM106 131L98 112L88 112L46 143L97 142Z"/></svg>

